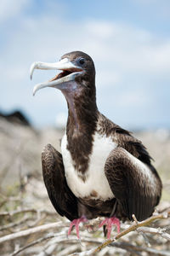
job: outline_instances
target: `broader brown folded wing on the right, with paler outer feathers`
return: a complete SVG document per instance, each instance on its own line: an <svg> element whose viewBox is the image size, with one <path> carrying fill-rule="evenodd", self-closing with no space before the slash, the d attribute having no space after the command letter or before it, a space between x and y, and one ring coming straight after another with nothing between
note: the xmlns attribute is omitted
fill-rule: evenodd
<svg viewBox="0 0 170 256"><path fill-rule="evenodd" d="M131 220L135 214L141 221L152 214L161 197L160 179L151 171L150 178L147 177L124 148L111 151L105 163L105 175L127 218Z"/></svg>

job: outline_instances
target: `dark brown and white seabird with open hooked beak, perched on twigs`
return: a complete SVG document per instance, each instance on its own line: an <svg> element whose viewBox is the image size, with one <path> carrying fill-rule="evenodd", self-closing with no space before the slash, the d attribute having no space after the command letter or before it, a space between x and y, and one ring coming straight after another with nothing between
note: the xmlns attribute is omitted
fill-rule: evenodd
<svg viewBox="0 0 170 256"><path fill-rule="evenodd" d="M99 227L111 237L120 220L149 218L161 198L161 178L150 154L130 131L99 112L96 103L95 67L82 51L72 51L53 63L33 62L35 69L59 71L53 79L34 86L58 89L65 96L68 119L61 153L51 144L42 150L42 176L56 212L75 226L104 217Z"/></svg>

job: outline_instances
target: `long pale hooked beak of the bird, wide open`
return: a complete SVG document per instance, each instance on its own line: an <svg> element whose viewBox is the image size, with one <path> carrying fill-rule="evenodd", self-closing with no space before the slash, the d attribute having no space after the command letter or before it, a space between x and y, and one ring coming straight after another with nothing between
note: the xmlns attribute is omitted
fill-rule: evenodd
<svg viewBox="0 0 170 256"><path fill-rule="evenodd" d="M55 69L62 70L62 72L57 74L53 79L50 79L47 82L36 84L33 89L33 95L36 94L37 90L45 87L54 87L59 90L65 89L65 86L68 82L74 81L77 75L82 73L82 69L74 65L67 58L54 63L34 62L31 65L30 69L31 79L34 69Z"/></svg>

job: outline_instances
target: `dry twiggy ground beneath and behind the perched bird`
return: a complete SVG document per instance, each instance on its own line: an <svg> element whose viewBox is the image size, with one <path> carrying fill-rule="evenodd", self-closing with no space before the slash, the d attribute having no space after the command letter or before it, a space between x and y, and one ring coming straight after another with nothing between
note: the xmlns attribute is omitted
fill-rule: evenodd
<svg viewBox="0 0 170 256"><path fill-rule="evenodd" d="M84 224L81 241L69 238L69 222L59 217L42 182L40 154L47 143L59 149L63 131L14 125L0 119L0 255L170 255L170 137L168 131L139 132L156 160L164 189L154 215L122 224L105 241L100 219ZM96 253L97 252L97 253Z"/></svg>

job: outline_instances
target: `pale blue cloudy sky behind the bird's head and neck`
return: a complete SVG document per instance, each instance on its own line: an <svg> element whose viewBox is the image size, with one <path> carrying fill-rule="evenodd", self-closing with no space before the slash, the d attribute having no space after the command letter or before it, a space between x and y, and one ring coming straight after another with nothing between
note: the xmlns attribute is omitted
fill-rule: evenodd
<svg viewBox="0 0 170 256"><path fill-rule="evenodd" d="M1 0L0 109L25 111L37 127L66 118L64 96L34 84L33 61L72 50L94 59L99 110L127 129L170 127L170 1Z"/></svg>

